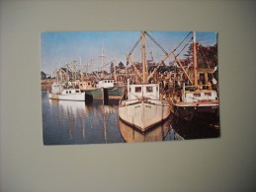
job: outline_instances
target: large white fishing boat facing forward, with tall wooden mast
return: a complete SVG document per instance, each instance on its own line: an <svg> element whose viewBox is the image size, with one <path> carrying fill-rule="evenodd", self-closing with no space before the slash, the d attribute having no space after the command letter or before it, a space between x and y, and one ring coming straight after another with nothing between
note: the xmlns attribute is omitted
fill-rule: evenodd
<svg viewBox="0 0 256 192"><path fill-rule="evenodd" d="M162 122L170 115L168 101L160 99L159 84L148 84L145 35L146 32L141 32L139 38L141 40L142 50L142 76L136 70L130 54L128 54L128 62L131 62L134 66L142 82L141 84L129 84L128 80L127 95L119 103L120 118L142 132Z"/></svg>

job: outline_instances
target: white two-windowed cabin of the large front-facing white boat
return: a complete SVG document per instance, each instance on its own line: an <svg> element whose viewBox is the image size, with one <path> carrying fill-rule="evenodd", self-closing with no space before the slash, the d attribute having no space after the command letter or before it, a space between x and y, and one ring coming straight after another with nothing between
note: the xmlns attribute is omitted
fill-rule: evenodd
<svg viewBox="0 0 256 192"><path fill-rule="evenodd" d="M151 99L159 99L159 85L128 85L128 99L136 99L142 96Z"/></svg>

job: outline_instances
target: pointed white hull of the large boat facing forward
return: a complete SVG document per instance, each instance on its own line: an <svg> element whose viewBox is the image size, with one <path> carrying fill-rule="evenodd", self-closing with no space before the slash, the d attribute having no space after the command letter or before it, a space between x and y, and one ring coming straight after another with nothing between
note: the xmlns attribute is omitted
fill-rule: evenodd
<svg viewBox="0 0 256 192"><path fill-rule="evenodd" d="M122 100L119 105L120 118L140 131L146 131L169 115L170 108L166 100Z"/></svg>

